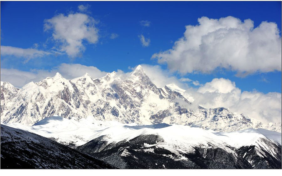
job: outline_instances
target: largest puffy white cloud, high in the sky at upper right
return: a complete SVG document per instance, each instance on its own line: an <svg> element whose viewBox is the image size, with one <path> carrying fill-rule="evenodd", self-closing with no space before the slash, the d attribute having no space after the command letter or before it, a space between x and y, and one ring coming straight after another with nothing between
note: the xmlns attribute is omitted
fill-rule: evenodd
<svg viewBox="0 0 282 176"><path fill-rule="evenodd" d="M238 76L281 71L281 37L276 23L262 22L253 28L252 20L242 22L231 16L201 17L198 23L187 25L172 49L152 58L180 73L210 73L216 68L236 71Z"/></svg>

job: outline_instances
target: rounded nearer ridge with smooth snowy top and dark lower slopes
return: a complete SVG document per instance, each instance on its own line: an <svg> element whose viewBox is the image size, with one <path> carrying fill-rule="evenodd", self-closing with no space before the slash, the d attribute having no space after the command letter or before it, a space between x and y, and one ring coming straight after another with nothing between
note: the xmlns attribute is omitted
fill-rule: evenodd
<svg viewBox="0 0 282 176"><path fill-rule="evenodd" d="M187 125L122 124L93 117L44 118L36 133L118 168L281 168L281 133L259 129L216 132ZM26 132L26 133L28 133Z"/></svg>

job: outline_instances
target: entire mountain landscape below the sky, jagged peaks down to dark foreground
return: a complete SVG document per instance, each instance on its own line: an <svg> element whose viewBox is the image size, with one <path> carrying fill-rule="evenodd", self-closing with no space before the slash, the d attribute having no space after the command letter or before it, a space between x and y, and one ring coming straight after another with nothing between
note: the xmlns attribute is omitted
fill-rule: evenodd
<svg viewBox="0 0 282 176"><path fill-rule="evenodd" d="M133 72L1 82L1 168L280 168L281 123ZM59 162L58 162L59 161Z"/></svg>

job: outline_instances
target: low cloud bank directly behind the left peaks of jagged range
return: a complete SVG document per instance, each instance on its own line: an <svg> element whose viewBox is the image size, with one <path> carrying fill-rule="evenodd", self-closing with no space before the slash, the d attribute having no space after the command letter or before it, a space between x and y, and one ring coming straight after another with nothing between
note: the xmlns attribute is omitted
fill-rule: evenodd
<svg viewBox="0 0 282 176"><path fill-rule="evenodd" d="M77 78L85 73L88 73L93 79L101 78L107 74L107 72L103 72L93 66L62 63L50 70L31 69L30 71L21 71L18 69L1 68L1 81L9 82L13 86L21 88L31 81L39 82L46 77L53 77L57 72L66 79Z"/></svg>

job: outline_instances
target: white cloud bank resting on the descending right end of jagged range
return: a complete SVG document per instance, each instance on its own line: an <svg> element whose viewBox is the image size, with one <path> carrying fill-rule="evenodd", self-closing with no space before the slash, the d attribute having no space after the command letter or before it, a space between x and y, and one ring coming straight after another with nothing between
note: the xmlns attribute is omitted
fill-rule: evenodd
<svg viewBox="0 0 282 176"><path fill-rule="evenodd" d="M198 105L206 108L224 107L265 123L281 122L281 93L264 94L256 90L242 92L235 82L224 78L214 78L198 89L188 88L185 93L194 98L192 108Z"/></svg>

